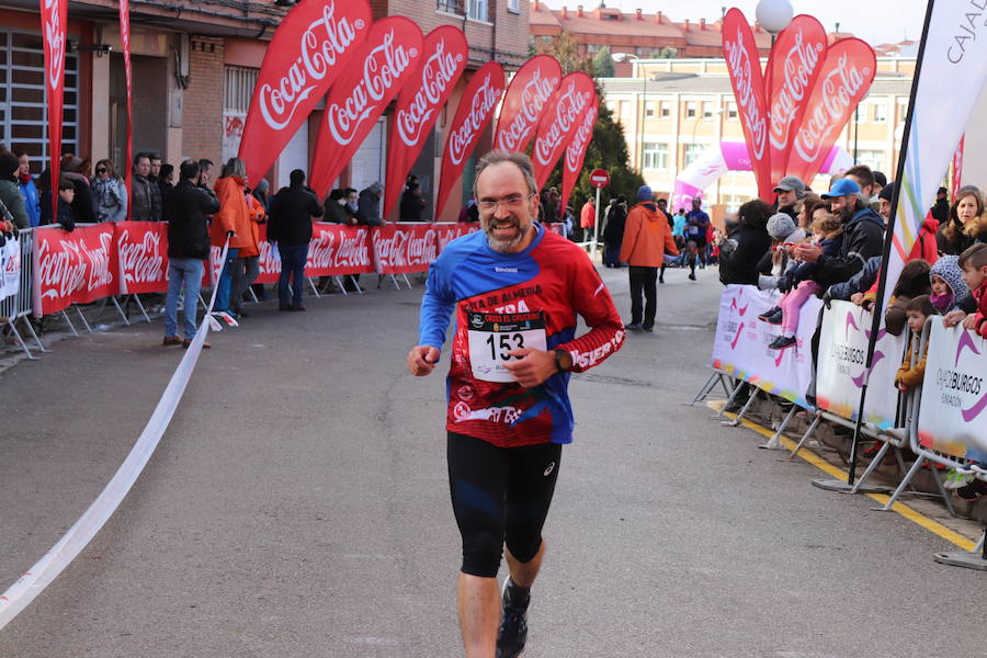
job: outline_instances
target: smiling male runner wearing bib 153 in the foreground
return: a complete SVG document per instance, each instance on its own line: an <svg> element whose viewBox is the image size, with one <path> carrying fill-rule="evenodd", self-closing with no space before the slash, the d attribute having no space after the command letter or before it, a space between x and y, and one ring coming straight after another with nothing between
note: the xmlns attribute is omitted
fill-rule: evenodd
<svg viewBox="0 0 987 658"><path fill-rule="evenodd" d="M429 269L408 370L434 370L455 313L446 430L463 537L460 626L467 658L513 658L527 636L561 444L572 441L569 372L619 350L624 331L586 253L534 222L538 196L526 156L487 154L474 192L483 230L451 242ZM590 328L579 338L577 314ZM502 552L510 575L501 601Z"/></svg>

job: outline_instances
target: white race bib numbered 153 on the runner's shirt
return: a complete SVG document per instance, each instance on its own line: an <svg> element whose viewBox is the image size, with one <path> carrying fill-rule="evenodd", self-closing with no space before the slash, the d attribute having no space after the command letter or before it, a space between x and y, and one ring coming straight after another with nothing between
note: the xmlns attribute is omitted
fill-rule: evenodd
<svg viewBox="0 0 987 658"><path fill-rule="evenodd" d="M469 363L473 376L484 382L513 382L504 366L511 350L547 350L545 315L533 313L466 311L469 336Z"/></svg>

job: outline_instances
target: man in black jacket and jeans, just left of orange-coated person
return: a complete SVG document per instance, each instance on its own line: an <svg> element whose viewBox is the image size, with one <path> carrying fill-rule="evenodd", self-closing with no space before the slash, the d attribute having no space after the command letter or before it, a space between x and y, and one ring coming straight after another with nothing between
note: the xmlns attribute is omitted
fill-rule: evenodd
<svg viewBox="0 0 987 658"><path fill-rule="evenodd" d="M208 215L219 212L219 200L212 190L200 186L198 162L185 160L179 169L181 180L168 195L168 296L164 299L164 345L189 347L195 336L195 311L202 270L209 258ZM178 298L185 288L185 340L178 337ZM203 343L203 348L208 348Z"/></svg>

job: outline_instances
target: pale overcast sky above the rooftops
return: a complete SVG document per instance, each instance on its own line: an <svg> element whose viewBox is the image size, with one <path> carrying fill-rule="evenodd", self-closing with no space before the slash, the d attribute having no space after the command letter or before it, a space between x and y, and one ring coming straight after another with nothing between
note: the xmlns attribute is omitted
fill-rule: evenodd
<svg viewBox="0 0 987 658"><path fill-rule="evenodd" d="M926 15L926 0L790 0L795 14L810 13L832 32L837 21L840 31L852 32L871 44L897 43L906 38L918 41ZM951 0L952 1L952 0ZM552 9L568 7L595 9L599 0L543 0ZM674 21L690 19L717 20L723 7L737 7L753 22L758 0L605 0L606 7L633 13L663 11Z"/></svg>

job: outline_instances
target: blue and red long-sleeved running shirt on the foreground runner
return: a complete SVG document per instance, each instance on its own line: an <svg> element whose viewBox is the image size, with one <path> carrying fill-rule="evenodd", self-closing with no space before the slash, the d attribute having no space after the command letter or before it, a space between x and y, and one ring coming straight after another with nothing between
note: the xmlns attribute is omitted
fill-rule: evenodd
<svg viewBox="0 0 987 658"><path fill-rule="evenodd" d="M546 348L567 350L572 355L572 372L603 362L624 342L620 314L586 252L538 224L534 226L534 240L518 253L495 251L481 230L450 242L429 268L421 303L421 345L441 350L450 317L453 310L456 314L446 377L446 429L499 447L571 443L569 374L557 373L534 388L477 379L469 354L469 324L481 327L478 316L489 320L484 328L496 331L498 321L523 324L541 315ZM579 338L577 314L590 328ZM491 352L520 347L510 340L507 345L495 344L494 338L504 334L489 336ZM481 338L474 340L476 349L478 344L483 344ZM484 345L484 352L486 349ZM478 362L488 360L486 353L478 358Z"/></svg>

